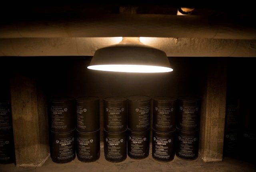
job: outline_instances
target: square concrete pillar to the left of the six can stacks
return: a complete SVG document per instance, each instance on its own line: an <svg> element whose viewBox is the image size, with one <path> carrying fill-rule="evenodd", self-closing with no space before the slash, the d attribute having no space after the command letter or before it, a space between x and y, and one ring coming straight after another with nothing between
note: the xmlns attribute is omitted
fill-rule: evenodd
<svg viewBox="0 0 256 172"><path fill-rule="evenodd" d="M16 166L41 166L50 156L47 101L34 77L10 80Z"/></svg>

